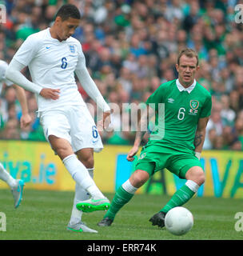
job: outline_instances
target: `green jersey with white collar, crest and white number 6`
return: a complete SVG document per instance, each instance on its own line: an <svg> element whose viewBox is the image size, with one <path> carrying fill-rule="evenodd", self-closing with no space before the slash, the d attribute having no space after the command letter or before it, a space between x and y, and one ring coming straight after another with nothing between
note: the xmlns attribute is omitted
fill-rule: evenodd
<svg viewBox="0 0 243 256"><path fill-rule="evenodd" d="M146 104L156 110L156 126L146 146L153 146L157 152L167 148L192 153L199 118L211 114L212 99L209 92L196 80L185 89L176 79L161 84Z"/></svg>

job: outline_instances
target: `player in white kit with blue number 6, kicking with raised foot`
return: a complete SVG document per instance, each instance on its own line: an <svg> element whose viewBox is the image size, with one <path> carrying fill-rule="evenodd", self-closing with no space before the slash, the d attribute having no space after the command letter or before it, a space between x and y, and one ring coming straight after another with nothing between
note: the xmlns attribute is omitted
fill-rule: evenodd
<svg viewBox="0 0 243 256"><path fill-rule="evenodd" d="M103 110L107 125L110 123L110 106L86 69L80 42L71 37L80 18L76 6L62 6L53 26L31 34L22 43L10 62L6 77L37 95L38 116L46 140L76 182L68 230L97 233L82 222L82 212L110 207L110 201L91 178L94 150L102 150L103 145L94 119L78 92L74 72L86 93ZM24 66L29 67L32 82L20 72Z"/></svg>

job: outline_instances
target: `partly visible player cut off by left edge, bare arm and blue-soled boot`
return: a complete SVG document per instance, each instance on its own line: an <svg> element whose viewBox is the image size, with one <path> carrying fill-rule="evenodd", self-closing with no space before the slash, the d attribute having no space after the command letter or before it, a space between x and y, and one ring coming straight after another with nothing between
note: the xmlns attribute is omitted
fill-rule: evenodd
<svg viewBox="0 0 243 256"><path fill-rule="evenodd" d="M6 84L6 86L14 86L14 89L16 90L16 96L22 108L22 117L20 118L20 127L23 128L28 126L31 122L30 114L28 113L25 90L23 90L22 87L14 85L13 82L10 82L10 80L6 79L5 74L6 74L7 67L8 67L8 64L0 60L0 94L2 93L3 84ZM18 206L20 205L20 202L22 201L22 192L24 188L24 182L22 181L22 179L13 178L7 172L7 170L4 168L1 162L0 162L0 179L2 179L2 181L6 182L8 186L10 186L10 189L14 197L14 207L18 208Z"/></svg>

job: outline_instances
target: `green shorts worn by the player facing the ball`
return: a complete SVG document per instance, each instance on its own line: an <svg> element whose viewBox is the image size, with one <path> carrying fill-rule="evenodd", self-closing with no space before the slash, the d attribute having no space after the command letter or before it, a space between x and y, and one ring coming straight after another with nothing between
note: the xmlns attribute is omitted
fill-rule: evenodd
<svg viewBox="0 0 243 256"><path fill-rule="evenodd" d="M154 152L153 146L143 147L137 159L135 170L145 170L152 176L155 172L167 169L179 178L185 178L186 172L193 166L201 166L201 162L193 154L182 153L177 150L161 148Z"/></svg>

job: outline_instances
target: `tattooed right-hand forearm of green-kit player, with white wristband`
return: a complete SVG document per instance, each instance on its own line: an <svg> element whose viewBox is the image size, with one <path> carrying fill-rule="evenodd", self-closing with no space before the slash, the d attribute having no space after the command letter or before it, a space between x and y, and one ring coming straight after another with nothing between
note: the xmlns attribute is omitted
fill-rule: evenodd
<svg viewBox="0 0 243 256"><path fill-rule="evenodd" d="M195 153L197 158L200 158L203 143L205 141L206 126L209 122L209 117L200 118L197 124L197 130L194 138Z"/></svg>

